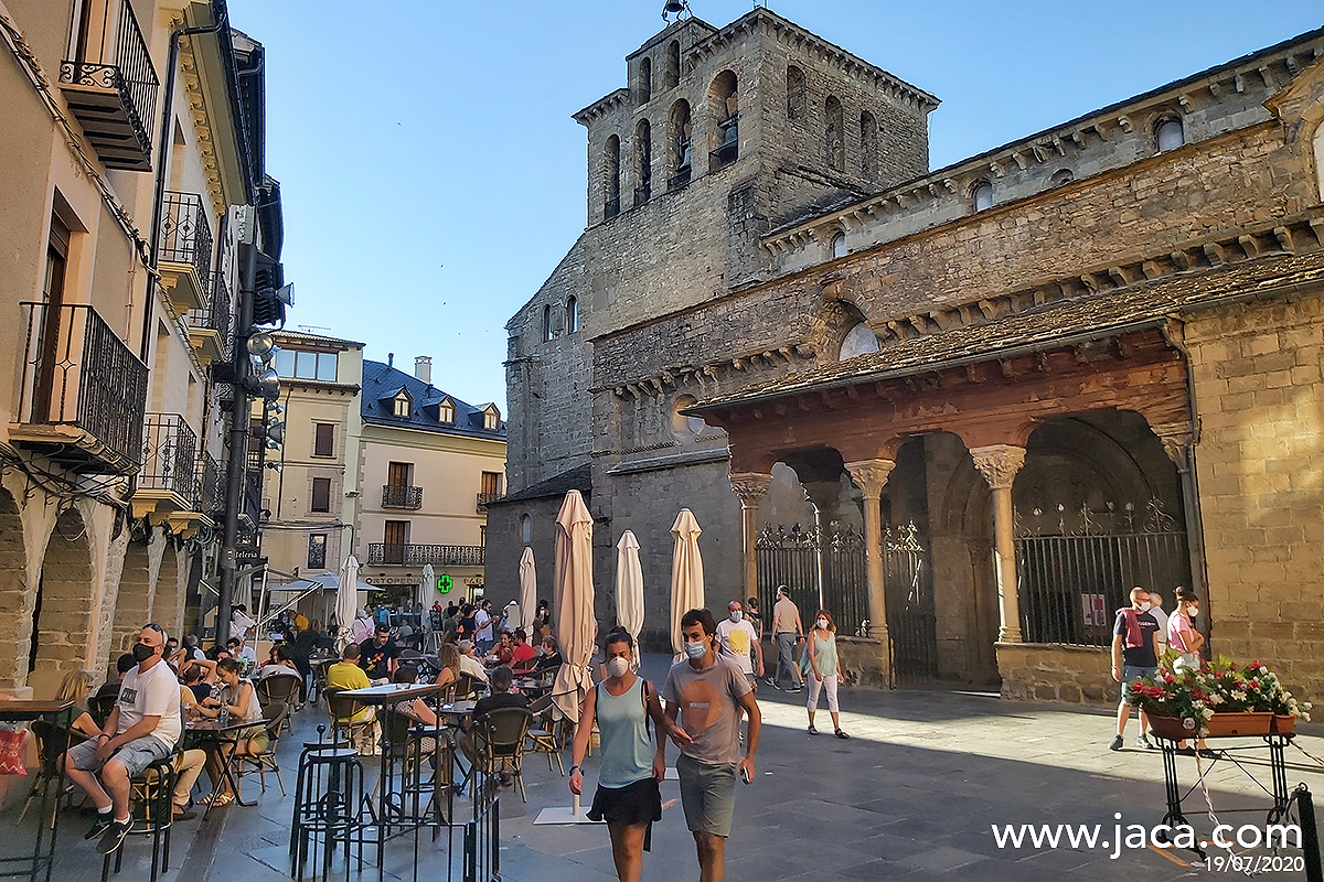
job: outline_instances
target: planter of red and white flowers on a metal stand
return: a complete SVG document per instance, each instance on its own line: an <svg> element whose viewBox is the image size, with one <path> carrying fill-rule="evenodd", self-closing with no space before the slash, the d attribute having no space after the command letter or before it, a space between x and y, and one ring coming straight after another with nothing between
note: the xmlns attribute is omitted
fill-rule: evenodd
<svg viewBox="0 0 1324 882"><path fill-rule="evenodd" d="M1271 735L1294 731L1309 721L1311 703L1283 689L1278 674L1253 661L1237 665L1223 656L1202 660L1200 669L1173 668L1177 655L1164 653L1158 670L1131 685L1127 701L1149 717L1162 738Z"/></svg>

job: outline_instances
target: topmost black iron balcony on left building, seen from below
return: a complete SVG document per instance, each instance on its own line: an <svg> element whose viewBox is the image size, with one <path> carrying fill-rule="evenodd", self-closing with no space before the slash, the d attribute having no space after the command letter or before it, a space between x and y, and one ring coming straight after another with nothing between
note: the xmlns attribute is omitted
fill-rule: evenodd
<svg viewBox="0 0 1324 882"><path fill-rule="evenodd" d="M70 45L60 90L102 164L150 172L159 81L130 0L83 0Z"/></svg>

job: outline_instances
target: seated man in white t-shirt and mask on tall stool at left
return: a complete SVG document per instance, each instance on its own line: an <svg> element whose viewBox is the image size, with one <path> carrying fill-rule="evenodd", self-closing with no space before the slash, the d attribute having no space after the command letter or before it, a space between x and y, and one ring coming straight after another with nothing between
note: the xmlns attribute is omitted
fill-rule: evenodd
<svg viewBox="0 0 1324 882"><path fill-rule="evenodd" d="M124 674L119 701L101 734L65 754L65 774L87 793L98 812L97 822L83 838L99 836L97 850L102 854L114 853L132 825L130 779L169 756L183 731L179 681L162 657L164 651L166 632L160 625L143 628L134 647L138 665Z"/></svg>

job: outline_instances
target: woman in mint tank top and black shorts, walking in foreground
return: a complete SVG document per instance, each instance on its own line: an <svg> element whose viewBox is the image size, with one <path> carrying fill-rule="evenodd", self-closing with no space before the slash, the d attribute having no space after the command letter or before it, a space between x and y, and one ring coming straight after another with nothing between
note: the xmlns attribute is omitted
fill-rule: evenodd
<svg viewBox="0 0 1324 882"><path fill-rule="evenodd" d="M658 784L666 778L666 754L654 746L649 721L661 744L666 743L666 735L678 743L690 737L662 713L653 684L634 673L634 639L628 631L618 628L608 633L602 655L606 678L591 689L580 705L569 787L576 796L584 792L580 763L597 723L601 764L588 817L606 821L616 875L621 882L638 882L643 853L650 850L653 822L662 820Z"/></svg>

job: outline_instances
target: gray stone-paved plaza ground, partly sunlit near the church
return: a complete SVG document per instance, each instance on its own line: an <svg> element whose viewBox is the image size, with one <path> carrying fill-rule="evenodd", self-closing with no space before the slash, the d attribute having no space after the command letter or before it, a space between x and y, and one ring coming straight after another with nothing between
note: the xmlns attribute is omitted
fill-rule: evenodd
<svg viewBox="0 0 1324 882"><path fill-rule="evenodd" d="M649 657L645 672L665 676L666 659ZM1123 849L1113 857L1113 825L1158 824L1164 815L1158 751L1107 748L1112 711L1001 701L974 692L879 692L842 689L842 723L850 741L830 734L826 710L820 735L805 731L804 693L763 688L764 735L757 779L741 787L735 832L727 846L727 879L1178 879L1207 875L1188 852ZM772 693L772 694L769 694ZM281 747L293 789L298 743L315 738L315 709L298 714L298 729ZM1307 726L1300 743L1324 755L1324 727ZM1222 742L1215 742L1221 744ZM1245 742L1253 743L1253 742ZM1324 792L1324 768L1288 748L1288 783ZM673 750L674 755L674 750ZM592 763L588 787L592 787ZM568 760L567 760L568 764ZM1268 783L1267 751L1242 764ZM1207 760L1206 760L1207 767ZM507 882L614 879L606 830L597 825L535 826L539 811L568 805L565 779L539 756L526 760L528 803L500 796L500 870ZM1181 759L1185 787L1196 760ZM1241 768L1219 760L1207 775L1219 820L1263 824L1270 800ZM256 787L254 787L256 789ZM654 826L645 879L698 878L694 842L685 828L678 785L666 782L663 819ZM1241 815L1231 809L1255 809ZM167 882L266 882L286 879L291 799L271 787L256 808L229 807L205 824L176 828ZM1213 822L1196 791L1188 816L1207 836ZM3 822L3 821L0 821ZM62 819L53 879L95 879L101 861L81 838L86 821ZM1102 825L1104 848L998 848L993 824ZM446 840L424 838L420 879L445 878ZM120 878L147 878L147 845L130 840ZM1222 856L1214 850L1213 854ZM1299 854L1288 850L1284 854ZM388 844L385 878L409 878L409 841ZM356 873L352 875L357 875ZM1231 878L1231 873L1227 873ZM375 878L376 871L363 878ZM343 878L343 874L334 878ZM455 878L459 878L458 875ZM1280 878L1294 878L1292 875ZM1303 878L1295 874L1295 878Z"/></svg>

